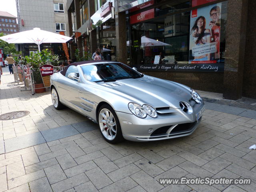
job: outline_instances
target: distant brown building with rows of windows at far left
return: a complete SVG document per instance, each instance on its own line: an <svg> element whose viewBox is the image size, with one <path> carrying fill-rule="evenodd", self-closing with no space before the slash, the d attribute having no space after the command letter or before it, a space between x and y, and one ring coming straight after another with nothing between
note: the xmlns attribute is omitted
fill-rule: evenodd
<svg viewBox="0 0 256 192"><path fill-rule="evenodd" d="M10 35L19 32L17 17L12 14L0 11L0 33Z"/></svg>

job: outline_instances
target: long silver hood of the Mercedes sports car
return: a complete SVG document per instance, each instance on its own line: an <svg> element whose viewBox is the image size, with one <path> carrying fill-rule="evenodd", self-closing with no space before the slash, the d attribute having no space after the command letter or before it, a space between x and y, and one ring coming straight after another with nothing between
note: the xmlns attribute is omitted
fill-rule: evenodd
<svg viewBox="0 0 256 192"><path fill-rule="evenodd" d="M149 104L152 107L180 108L180 102L188 104L192 98L186 86L167 80L146 76L137 79L123 79L115 82L101 83L138 104Z"/></svg>

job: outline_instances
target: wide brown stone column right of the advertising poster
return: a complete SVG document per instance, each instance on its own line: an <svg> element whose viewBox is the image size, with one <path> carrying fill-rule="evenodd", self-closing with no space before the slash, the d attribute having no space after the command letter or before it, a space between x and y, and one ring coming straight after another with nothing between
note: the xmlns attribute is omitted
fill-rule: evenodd
<svg viewBox="0 0 256 192"><path fill-rule="evenodd" d="M223 98L242 97L248 0L229 0L226 24L226 55Z"/></svg>

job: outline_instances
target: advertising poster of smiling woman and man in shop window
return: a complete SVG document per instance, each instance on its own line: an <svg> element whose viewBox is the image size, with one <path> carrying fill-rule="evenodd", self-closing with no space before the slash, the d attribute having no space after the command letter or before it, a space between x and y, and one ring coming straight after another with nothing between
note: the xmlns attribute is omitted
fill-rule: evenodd
<svg viewBox="0 0 256 192"><path fill-rule="evenodd" d="M221 4L192 10L190 13L190 64L216 64L220 61Z"/></svg>

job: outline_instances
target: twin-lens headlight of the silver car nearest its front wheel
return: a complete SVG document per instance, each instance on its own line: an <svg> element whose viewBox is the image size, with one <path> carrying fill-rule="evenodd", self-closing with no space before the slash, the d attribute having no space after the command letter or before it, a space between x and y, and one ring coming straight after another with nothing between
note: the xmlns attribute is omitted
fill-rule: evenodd
<svg viewBox="0 0 256 192"><path fill-rule="evenodd" d="M145 118L147 114L153 118L157 117L156 110L154 110L154 108L149 105L145 104L143 106L140 106L139 104L131 102L128 104L128 107L130 111L137 117Z"/></svg>

